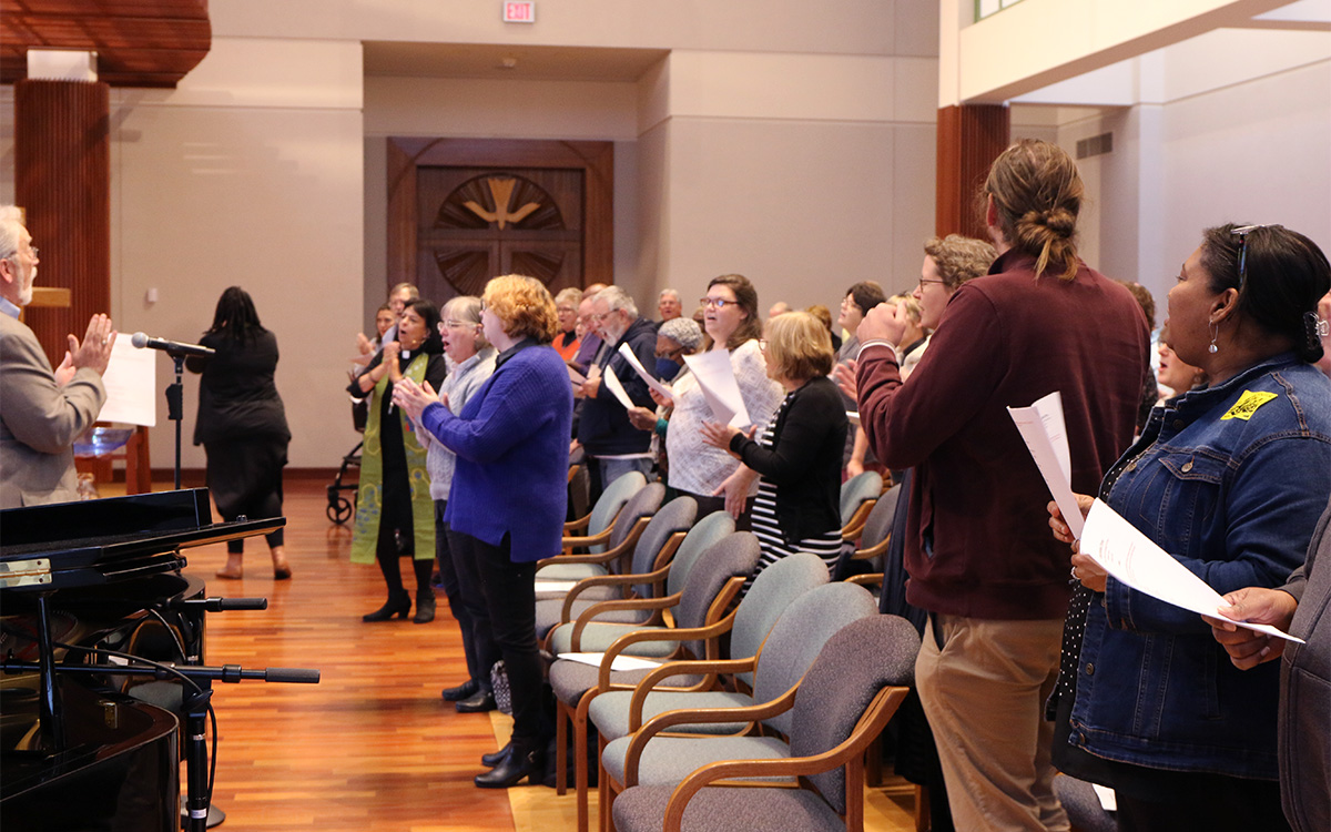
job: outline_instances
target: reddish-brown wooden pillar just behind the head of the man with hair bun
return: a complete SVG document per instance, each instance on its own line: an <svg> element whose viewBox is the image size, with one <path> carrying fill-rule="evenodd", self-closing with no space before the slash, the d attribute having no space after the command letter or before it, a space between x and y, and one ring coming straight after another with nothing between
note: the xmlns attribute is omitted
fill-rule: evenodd
<svg viewBox="0 0 1331 832"><path fill-rule="evenodd" d="M976 193L1008 148L1010 114L1002 104L961 104L938 110L938 197L934 233L988 240L976 216Z"/></svg>

